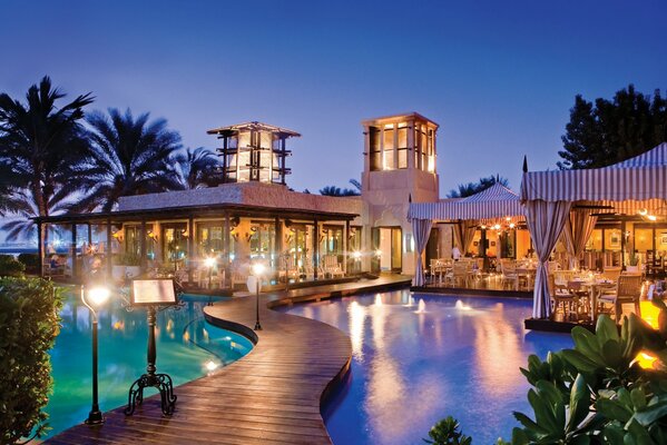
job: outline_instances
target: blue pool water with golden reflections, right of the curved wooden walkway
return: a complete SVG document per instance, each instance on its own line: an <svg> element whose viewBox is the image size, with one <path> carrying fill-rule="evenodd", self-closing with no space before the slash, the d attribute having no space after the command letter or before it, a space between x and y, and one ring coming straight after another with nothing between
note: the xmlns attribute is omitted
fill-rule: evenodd
<svg viewBox="0 0 667 445"><path fill-rule="evenodd" d="M423 443L448 415L473 444L491 444L511 438L512 411L532 414L519 370L528 356L572 346L567 334L523 328L531 304L402 290L283 310L333 325L352 340L352 372L323 411L334 444Z"/></svg>

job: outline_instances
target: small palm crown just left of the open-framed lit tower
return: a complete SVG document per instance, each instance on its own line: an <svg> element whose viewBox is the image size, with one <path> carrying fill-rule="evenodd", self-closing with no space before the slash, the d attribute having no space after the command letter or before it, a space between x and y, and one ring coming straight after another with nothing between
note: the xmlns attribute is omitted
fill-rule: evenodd
<svg viewBox="0 0 667 445"><path fill-rule="evenodd" d="M184 188L215 187L220 184L222 162L213 151L198 147L188 148L185 154L176 157L179 169L179 180Z"/></svg>

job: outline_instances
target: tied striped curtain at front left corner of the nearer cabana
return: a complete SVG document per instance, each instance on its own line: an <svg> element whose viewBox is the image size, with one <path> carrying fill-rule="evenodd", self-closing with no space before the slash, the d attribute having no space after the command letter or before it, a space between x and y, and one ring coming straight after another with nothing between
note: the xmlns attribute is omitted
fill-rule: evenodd
<svg viewBox="0 0 667 445"><path fill-rule="evenodd" d="M551 300L547 261L570 215L570 201L526 201L526 219L538 256L538 268L532 295L532 317L549 318Z"/></svg>

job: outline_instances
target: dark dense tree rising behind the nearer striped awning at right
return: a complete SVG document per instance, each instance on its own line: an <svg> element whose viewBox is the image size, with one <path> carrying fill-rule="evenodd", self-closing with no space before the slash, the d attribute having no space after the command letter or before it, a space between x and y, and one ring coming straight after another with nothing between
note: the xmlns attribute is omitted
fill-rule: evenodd
<svg viewBox="0 0 667 445"><path fill-rule="evenodd" d="M660 90L651 98L632 85L617 91L611 101L598 98L594 103L577 95L561 139L560 169L620 162L667 141L667 100Z"/></svg>

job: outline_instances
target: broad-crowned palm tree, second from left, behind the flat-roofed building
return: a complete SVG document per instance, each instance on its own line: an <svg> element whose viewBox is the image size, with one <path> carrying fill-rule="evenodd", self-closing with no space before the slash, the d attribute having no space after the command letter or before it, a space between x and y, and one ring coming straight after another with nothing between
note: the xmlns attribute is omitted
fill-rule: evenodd
<svg viewBox="0 0 667 445"><path fill-rule="evenodd" d="M121 115L115 108L108 116L97 111L87 118L89 191L71 210L111 211L121 196L183 189L175 167L180 136L167 129L165 119L148 118L147 112L135 119L129 109Z"/></svg>

